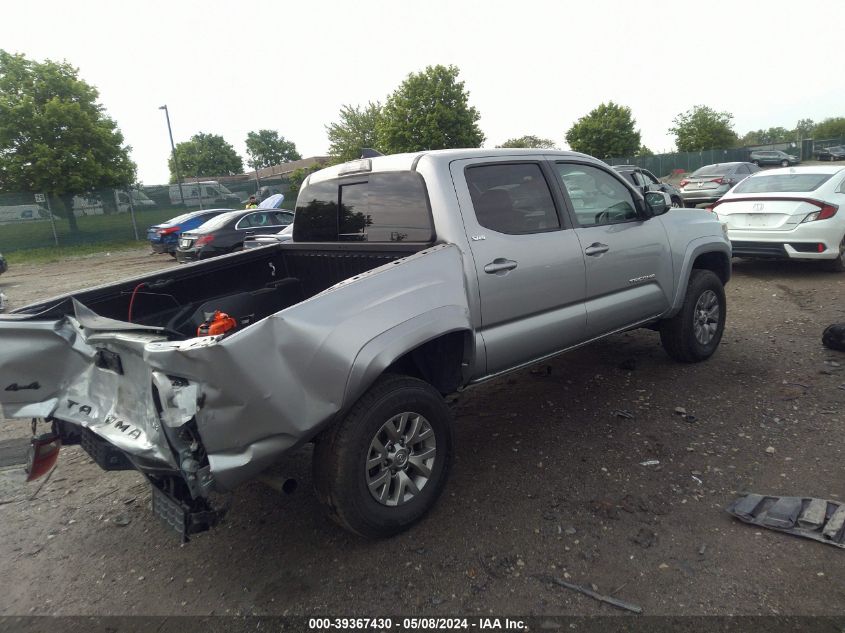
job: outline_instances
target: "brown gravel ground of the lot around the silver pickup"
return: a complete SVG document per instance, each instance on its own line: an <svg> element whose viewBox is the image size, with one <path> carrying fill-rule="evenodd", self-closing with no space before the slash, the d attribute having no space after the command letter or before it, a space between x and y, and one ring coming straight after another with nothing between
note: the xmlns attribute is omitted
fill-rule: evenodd
<svg viewBox="0 0 845 633"><path fill-rule="evenodd" d="M20 266L0 288L20 306L171 265L139 250ZM741 491L845 496L845 354L820 344L845 321L845 275L743 261L734 275L709 362L676 364L637 331L461 394L443 498L383 542L324 518L308 450L280 467L294 494L248 484L182 546L140 475L79 447L24 487L9 464L28 425L0 421L0 614L618 613L549 575L649 615L845 614L845 551L723 511Z"/></svg>

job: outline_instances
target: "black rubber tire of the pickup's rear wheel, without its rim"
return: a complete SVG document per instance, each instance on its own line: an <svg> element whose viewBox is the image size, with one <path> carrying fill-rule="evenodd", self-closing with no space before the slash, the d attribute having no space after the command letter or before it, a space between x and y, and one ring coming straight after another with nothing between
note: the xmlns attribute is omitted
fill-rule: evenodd
<svg viewBox="0 0 845 633"><path fill-rule="evenodd" d="M405 412L423 416L433 431L434 462L418 493L389 506L370 492L367 460L380 430ZM422 380L387 374L317 440L314 489L331 518L342 527L364 538L386 538L408 529L432 508L446 485L451 465L452 414L441 395Z"/></svg>

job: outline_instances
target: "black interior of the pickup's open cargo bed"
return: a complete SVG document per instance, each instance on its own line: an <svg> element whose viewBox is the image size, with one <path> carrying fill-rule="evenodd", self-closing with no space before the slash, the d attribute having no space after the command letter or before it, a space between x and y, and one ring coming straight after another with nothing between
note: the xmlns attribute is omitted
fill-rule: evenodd
<svg viewBox="0 0 845 633"><path fill-rule="evenodd" d="M183 340L196 336L216 310L246 327L427 246L278 244L73 293L15 314L61 318L73 314L73 297L102 317L163 327L172 340Z"/></svg>

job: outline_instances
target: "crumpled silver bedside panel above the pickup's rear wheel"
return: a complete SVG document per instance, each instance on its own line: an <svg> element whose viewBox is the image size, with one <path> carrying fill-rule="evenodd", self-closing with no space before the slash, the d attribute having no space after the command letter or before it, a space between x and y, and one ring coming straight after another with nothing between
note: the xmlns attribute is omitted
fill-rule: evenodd
<svg viewBox="0 0 845 633"><path fill-rule="evenodd" d="M197 428L215 480L231 488L310 440L398 356L470 330L460 257L435 247L227 337L151 343L145 361L199 385Z"/></svg>

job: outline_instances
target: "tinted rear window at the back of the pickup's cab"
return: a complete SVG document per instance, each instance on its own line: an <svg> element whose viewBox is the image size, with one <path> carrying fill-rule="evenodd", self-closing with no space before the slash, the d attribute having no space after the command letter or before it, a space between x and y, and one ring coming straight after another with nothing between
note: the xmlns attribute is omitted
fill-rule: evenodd
<svg viewBox="0 0 845 633"><path fill-rule="evenodd" d="M396 171L309 184L299 194L296 242L434 241L425 182Z"/></svg>

